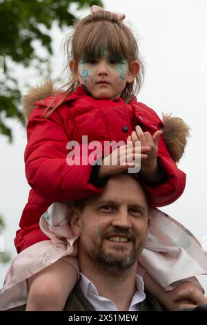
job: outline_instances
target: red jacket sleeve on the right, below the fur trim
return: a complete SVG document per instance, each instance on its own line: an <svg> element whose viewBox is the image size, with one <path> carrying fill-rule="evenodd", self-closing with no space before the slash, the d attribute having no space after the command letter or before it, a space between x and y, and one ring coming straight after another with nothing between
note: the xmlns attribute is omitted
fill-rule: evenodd
<svg viewBox="0 0 207 325"><path fill-rule="evenodd" d="M176 201L184 192L186 174L178 169L170 157L162 137L159 139L157 158L165 171L166 182L157 186L150 186L144 182L143 185L148 192L152 207L163 207Z"/></svg>

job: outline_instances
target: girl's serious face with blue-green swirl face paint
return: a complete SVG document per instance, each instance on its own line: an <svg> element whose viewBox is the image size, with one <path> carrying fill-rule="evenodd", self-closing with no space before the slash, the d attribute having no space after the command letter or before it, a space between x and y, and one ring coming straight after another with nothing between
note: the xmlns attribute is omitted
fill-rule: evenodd
<svg viewBox="0 0 207 325"><path fill-rule="evenodd" d="M79 84L86 86L93 97L97 99L112 99L120 97L129 77L126 59L119 59L103 53L102 57L81 59L78 66Z"/></svg>

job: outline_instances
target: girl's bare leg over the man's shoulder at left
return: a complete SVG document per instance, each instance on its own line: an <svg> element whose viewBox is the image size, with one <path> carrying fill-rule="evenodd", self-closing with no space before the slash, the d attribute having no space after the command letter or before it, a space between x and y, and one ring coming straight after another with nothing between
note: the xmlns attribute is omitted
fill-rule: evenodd
<svg viewBox="0 0 207 325"><path fill-rule="evenodd" d="M78 279L72 264L60 259L28 279L26 311L63 310Z"/></svg>

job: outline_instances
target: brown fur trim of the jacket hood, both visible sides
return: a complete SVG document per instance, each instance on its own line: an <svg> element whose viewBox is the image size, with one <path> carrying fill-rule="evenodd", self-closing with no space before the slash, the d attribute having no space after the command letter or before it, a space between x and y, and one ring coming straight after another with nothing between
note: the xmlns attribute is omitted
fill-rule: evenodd
<svg viewBox="0 0 207 325"><path fill-rule="evenodd" d="M31 89L27 95L23 96L23 113L26 119L35 107L34 102L61 93L63 90L55 89L52 80L46 80L43 85ZM172 113L163 113L162 120L165 124L162 136L166 147L172 159L178 163L184 154L187 139L190 137L190 127L181 118L173 117Z"/></svg>

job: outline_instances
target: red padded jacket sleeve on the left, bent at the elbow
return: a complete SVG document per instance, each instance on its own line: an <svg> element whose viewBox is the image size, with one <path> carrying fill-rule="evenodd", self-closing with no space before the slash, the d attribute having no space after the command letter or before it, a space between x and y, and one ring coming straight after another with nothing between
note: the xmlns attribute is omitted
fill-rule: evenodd
<svg viewBox="0 0 207 325"><path fill-rule="evenodd" d="M68 165L66 121L63 116L53 111L48 118L43 118L45 108L37 106L30 115L27 125L28 145L25 151L26 177L29 185L37 194L48 201L70 201L101 192L90 183L92 166ZM80 145L77 155L85 157L92 150L88 144ZM70 159L71 160L71 159Z"/></svg>

